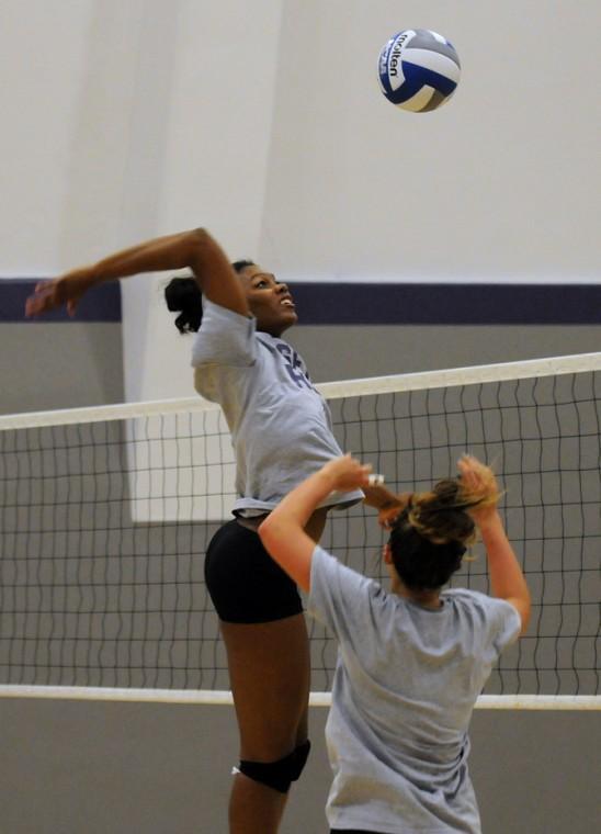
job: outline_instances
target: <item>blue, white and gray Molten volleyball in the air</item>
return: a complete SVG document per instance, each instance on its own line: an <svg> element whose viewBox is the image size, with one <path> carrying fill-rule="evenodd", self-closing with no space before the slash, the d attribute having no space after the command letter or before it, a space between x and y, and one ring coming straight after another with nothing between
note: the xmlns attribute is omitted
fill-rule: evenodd
<svg viewBox="0 0 601 834"><path fill-rule="evenodd" d="M384 44L379 86L393 104L413 113L436 110L457 87L461 64L454 46L428 29L406 29Z"/></svg>

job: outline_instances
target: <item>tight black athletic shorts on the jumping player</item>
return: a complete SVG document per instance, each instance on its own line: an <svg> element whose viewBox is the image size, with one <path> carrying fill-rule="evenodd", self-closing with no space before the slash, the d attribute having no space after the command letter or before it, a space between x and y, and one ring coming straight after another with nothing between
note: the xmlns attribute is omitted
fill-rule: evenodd
<svg viewBox="0 0 601 834"><path fill-rule="evenodd" d="M271 622L303 611L294 582L271 559L258 533L237 521L228 521L211 540L204 576L225 622Z"/></svg>

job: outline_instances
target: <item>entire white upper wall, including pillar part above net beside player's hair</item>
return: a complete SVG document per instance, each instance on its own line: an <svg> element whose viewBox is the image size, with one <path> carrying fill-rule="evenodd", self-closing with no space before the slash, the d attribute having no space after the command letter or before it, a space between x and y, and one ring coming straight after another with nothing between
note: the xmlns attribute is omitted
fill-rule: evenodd
<svg viewBox="0 0 601 834"><path fill-rule="evenodd" d="M378 92L407 26L458 49L440 112ZM600 27L597 0L4 0L0 274L202 224L286 279L599 280ZM128 399L191 393L161 286L124 282Z"/></svg>

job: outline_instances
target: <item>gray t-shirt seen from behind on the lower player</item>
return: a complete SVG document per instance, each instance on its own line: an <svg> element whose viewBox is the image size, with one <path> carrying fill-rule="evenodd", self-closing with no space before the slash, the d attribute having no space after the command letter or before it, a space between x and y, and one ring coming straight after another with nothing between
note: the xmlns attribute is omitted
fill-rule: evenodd
<svg viewBox="0 0 601 834"><path fill-rule="evenodd" d="M423 608L315 549L308 611L339 641L326 725L334 829L480 832L467 729L520 617L474 590L441 600Z"/></svg>

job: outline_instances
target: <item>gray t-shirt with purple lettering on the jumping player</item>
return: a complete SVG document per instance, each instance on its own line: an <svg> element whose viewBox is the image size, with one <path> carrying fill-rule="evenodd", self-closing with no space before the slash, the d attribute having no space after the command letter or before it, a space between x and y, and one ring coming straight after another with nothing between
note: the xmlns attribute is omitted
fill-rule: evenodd
<svg viewBox="0 0 601 834"><path fill-rule="evenodd" d="M330 410L305 363L283 339L257 331L254 318L203 300L194 338L194 385L219 403L236 452L234 512L272 510L305 477L342 451ZM321 506L349 506L361 491L332 493Z"/></svg>

